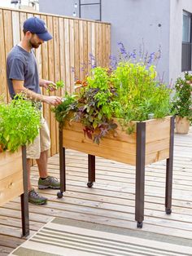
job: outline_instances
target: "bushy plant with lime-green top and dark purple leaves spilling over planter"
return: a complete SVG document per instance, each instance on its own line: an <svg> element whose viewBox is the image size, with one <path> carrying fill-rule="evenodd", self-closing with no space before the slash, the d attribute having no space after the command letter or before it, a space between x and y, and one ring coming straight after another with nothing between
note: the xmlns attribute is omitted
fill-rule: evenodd
<svg viewBox="0 0 192 256"><path fill-rule="evenodd" d="M112 120L115 91L110 86L107 71L107 68L100 67L92 70L87 77L87 86L81 89L74 114L74 120L81 121L85 135L95 143L99 143L109 130L117 127Z"/></svg>

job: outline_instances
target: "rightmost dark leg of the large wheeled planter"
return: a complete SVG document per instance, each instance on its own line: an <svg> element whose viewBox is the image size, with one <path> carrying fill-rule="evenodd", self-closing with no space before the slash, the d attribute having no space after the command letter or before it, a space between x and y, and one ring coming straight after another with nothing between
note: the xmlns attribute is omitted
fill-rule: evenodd
<svg viewBox="0 0 192 256"><path fill-rule="evenodd" d="M165 189L165 212L172 213L172 166L174 144L174 117L171 117L169 158L166 161L166 189Z"/></svg>

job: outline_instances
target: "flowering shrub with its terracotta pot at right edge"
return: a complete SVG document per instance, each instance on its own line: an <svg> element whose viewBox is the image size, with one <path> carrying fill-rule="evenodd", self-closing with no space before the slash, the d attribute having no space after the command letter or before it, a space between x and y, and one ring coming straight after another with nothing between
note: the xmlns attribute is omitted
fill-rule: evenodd
<svg viewBox="0 0 192 256"><path fill-rule="evenodd" d="M187 134L192 124L192 75L185 73L185 77L177 78L173 109L176 113L176 132Z"/></svg>

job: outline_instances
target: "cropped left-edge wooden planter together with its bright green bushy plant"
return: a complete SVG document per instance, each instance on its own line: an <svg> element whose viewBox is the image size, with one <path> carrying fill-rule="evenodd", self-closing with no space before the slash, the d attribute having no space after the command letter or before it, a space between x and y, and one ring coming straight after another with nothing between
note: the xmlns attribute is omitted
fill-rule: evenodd
<svg viewBox="0 0 192 256"><path fill-rule="evenodd" d="M28 184L25 146L40 127L40 113L33 103L18 95L6 104L0 101L0 205L21 196L23 236L28 227Z"/></svg>

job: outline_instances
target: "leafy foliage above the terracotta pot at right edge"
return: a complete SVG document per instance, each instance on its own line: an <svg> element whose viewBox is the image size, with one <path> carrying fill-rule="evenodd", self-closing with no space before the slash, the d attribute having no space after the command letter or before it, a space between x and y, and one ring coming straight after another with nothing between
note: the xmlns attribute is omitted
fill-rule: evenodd
<svg viewBox="0 0 192 256"><path fill-rule="evenodd" d="M176 93L173 97L173 111L179 117L187 117L192 124L192 75L185 73L185 78L177 78Z"/></svg>

